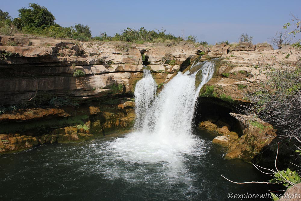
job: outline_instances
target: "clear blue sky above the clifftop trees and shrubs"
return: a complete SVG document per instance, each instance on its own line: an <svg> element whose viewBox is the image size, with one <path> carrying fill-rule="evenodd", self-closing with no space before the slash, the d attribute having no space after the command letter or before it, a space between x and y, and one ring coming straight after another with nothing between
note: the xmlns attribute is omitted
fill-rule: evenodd
<svg viewBox="0 0 301 201"><path fill-rule="evenodd" d="M241 33L253 36L253 43L268 41L289 22L290 13L301 17L301 0L207 0L207 1L89 1L10 0L0 9L18 17L18 9L29 3L48 8L61 26L84 24L92 35L113 36L126 27L159 29L175 36L197 36L198 41L237 42Z"/></svg>

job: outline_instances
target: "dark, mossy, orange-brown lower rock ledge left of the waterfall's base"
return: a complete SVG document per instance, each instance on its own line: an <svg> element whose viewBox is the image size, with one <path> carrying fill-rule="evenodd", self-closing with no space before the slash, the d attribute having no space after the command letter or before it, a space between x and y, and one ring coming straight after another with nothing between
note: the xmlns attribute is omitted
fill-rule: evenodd
<svg viewBox="0 0 301 201"><path fill-rule="evenodd" d="M135 119L135 103L125 98L110 101L95 106L31 108L2 114L0 154L23 151L45 143L94 140L130 129Z"/></svg>

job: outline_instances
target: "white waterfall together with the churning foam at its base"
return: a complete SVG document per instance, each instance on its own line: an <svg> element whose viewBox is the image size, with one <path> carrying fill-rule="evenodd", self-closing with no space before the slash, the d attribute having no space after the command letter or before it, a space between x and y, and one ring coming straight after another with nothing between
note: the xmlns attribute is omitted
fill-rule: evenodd
<svg viewBox="0 0 301 201"><path fill-rule="evenodd" d="M207 149L203 140L192 135L192 121L200 88L213 76L214 64L193 67L192 73L178 72L157 96L157 84L144 70L135 87L135 131L106 146L102 164L107 177L192 185L185 161ZM195 86L196 77L202 78L199 86Z"/></svg>

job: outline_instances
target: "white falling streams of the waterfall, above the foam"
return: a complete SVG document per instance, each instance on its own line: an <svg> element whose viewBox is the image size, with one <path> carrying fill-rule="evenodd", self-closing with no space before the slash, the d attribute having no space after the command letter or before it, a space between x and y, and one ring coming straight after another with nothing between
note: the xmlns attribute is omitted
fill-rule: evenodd
<svg viewBox="0 0 301 201"><path fill-rule="evenodd" d="M191 68L201 63L203 66L190 75L183 75L178 72L165 85L156 99L154 99L155 81L150 72L144 70L144 74L147 72L147 76L138 81L135 88L135 112L137 116L135 128L142 129L142 133L152 133L168 138L190 134L199 91L214 73L214 64L211 62L199 62ZM202 71L202 81L199 86L195 87L196 74L199 71Z"/></svg>

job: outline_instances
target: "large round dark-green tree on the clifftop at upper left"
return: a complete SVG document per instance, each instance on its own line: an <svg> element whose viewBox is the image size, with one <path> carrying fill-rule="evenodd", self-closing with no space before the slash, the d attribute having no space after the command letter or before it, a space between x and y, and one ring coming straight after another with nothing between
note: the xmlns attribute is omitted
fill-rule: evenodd
<svg viewBox="0 0 301 201"><path fill-rule="evenodd" d="M54 15L44 6L30 3L29 8L20 8L18 11L24 26L44 29L54 25Z"/></svg>

